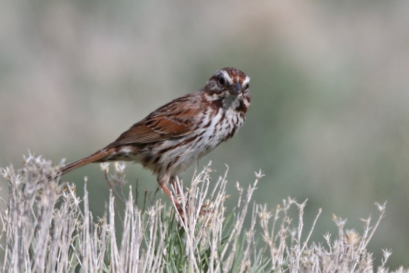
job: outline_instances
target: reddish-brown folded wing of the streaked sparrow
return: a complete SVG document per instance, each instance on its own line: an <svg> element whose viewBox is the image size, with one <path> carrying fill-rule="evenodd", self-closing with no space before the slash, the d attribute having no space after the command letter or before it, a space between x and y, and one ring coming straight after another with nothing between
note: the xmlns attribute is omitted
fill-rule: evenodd
<svg viewBox="0 0 409 273"><path fill-rule="evenodd" d="M145 119L133 124L107 147L150 143L190 134L195 129L199 109L186 107L177 112L172 110L165 107L156 110Z"/></svg>

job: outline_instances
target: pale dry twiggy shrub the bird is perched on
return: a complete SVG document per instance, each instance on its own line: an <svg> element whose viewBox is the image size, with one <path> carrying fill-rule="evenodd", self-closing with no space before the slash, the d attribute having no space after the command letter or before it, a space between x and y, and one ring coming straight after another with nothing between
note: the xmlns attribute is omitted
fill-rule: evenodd
<svg viewBox="0 0 409 273"><path fill-rule="evenodd" d="M346 220L334 216L336 237L325 234L322 243L315 243L310 237L321 210L305 232L306 201L287 198L275 209L252 202L261 172L246 188L236 184L239 200L233 212L226 212L224 204L227 172L213 182L209 164L195 172L189 187L177 181L172 191L180 193L186 211L181 217L161 200L139 209L132 190L127 197L122 191L125 165L116 163L112 175L102 164L111 191L104 216L94 219L86 180L80 199L74 185L58 184L60 165L29 154L23 169L3 169L9 182L7 209L0 214L3 272L388 272L391 251L383 250L381 266L374 269L366 249L385 204L376 203L378 219L375 224L364 220L363 234L345 230ZM125 203L124 212L116 208L116 197ZM297 220L290 218L290 209L298 210ZM116 213L121 224L115 222ZM246 217L251 220L247 229Z"/></svg>

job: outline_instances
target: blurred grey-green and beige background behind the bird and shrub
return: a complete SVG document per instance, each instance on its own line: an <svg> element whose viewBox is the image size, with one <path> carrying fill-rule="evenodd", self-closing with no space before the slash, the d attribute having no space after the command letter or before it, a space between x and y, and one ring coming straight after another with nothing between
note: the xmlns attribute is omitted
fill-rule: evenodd
<svg viewBox="0 0 409 273"><path fill-rule="evenodd" d="M255 200L274 208L308 198L314 240L336 233L332 213L387 215L369 245L376 264L409 267L409 2L397 1L9 1L0 9L0 165L21 167L28 149L74 161L219 68L251 76L253 100L238 135L199 162L214 179L230 166L243 185L262 169ZM191 168L184 176L189 181ZM108 186L98 164L90 206ZM154 191L129 165L127 179ZM1 179L3 195L7 184ZM79 186L82 188L82 186ZM164 195L160 194L160 197ZM166 198L166 197L165 197Z"/></svg>

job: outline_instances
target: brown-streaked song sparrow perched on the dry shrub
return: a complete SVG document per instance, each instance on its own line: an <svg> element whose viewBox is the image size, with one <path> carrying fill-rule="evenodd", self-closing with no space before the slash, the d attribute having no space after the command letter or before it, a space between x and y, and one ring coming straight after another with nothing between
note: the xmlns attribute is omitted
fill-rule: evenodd
<svg viewBox="0 0 409 273"><path fill-rule="evenodd" d="M239 69L220 69L202 89L153 111L104 149L63 167L61 174L92 162L134 161L157 175L172 199L167 183L243 125L251 99L249 81Z"/></svg>

